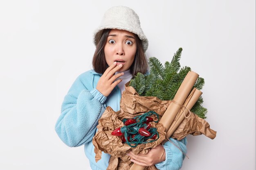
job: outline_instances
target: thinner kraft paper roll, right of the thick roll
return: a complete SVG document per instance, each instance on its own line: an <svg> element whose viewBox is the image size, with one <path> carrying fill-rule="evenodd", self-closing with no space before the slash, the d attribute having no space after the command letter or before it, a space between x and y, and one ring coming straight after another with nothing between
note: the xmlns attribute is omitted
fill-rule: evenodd
<svg viewBox="0 0 256 170"><path fill-rule="evenodd" d="M192 109L192 107L195 105L195 103L198 101L198 99L200 98L201 95L202 95L202 92L199 91L196 88L194 88L193 91L191 92L191 94L189 94L189 97L187 98L187 100L184 103L184 106L186 106L187 109L185 108L185 110L184 109L180 110L177 117L175 118L175 120L171 124L171 127L166 132L166 137L167 138L170 138L171 135L173 134L173 132L179 127L181 122L184 120L185 115L186 116L188 115L189 110Z"/></svg>

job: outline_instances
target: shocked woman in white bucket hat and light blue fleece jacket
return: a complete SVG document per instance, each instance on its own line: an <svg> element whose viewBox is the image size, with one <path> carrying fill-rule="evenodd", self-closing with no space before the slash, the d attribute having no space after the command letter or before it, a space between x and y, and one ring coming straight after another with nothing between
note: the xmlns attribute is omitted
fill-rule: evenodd
<svg viewBox="0 0 256 170"><path fill-rule="evenodd" d="M148 40L140 27L138 15L128 7L118 6L104 14L101 26L95 31L94 44L94 70L81 74L74 81L64 98L55 130L67 146L84 145L93 170L106 170L110 155L102 152L101 160L96 163L92 137L106 107L115 111L120 109L124 84L137 72L146 74L148 65L144 52ZM184 159L181 150L186 153L186 138L171 140L176 146L166 142L146 155L132 152L128 155L132 162L141 166L155 164L160 170L180 169Z"/></svg>

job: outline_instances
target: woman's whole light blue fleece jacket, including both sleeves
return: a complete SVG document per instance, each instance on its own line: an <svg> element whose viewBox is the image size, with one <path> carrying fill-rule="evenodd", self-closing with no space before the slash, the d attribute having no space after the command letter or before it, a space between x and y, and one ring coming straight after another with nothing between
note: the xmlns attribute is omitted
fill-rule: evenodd
<svg viewBox="0 0 256 170"><path fill-rule="evenodd" d="M55 131L61 140L70 147L84 145L85 155L90 161L92 170L106 170L110 155L102 152L101 159L95 162L92 137L97 131L98 120L110 106L113 110L120 109L121 92L116 86L111 94L103 96L96 85L102 74L89 70L79 75L64 98L61 115L58 118ZM186 138L181 141L170 138L163 146L166 160L156 164L160 170L179 170L186 153ZM177 146L180 148L178 149Z"/></svg>

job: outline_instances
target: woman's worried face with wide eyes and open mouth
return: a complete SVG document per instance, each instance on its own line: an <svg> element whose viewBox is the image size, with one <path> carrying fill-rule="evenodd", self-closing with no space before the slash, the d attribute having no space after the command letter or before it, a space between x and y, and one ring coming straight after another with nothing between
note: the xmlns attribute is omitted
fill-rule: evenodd
<svg viewBox="0 0 256 170"><path fill-rule="evenodd" d="M132 65L137 50L135 34L129 31L112 29L108 34L104 53L108 65L115 61L117 65L122 64L119 72L124 72Z"/></svg>

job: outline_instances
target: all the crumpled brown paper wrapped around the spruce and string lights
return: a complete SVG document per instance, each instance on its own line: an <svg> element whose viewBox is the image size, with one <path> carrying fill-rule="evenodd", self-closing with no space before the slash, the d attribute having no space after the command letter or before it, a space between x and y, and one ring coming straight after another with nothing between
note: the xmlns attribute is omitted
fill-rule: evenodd
<svg viewBox="0 0 256 170"><path fill-rule="evenodd" d="M107 107L99 119L98 131L92 139L92 143L95 146L96 162L101 159L101 151L111 155L107 170L128 170L133 163L126 153L132 150L135 154L146 154L149 148L154 148L161 144L166 137L164 126L162 124L155 124L154 122L151 122L151 126L157 128L159 139L148 144L139 144L136 148L132 148L128 144L123 144L120 137L111 135L113 130L124 126L121 121L124 118L134 118L152 110L158 113L161 118L171 103L169 100L160 100L157 97L139 96L131 86L126 86L125 88L126 90L123 92L120 101L120 111L115 112L111 107ZM204 134L210 138L214 136L212 135L213 130L209 128L209 124L204 119L199 118L193 113L189 117L191 119L185 118L171 137L180 140L186 137L186 135L189 135L189 133L192 133L192 135ZM157 168L150 166L147 170L157 170Z"/></svg>

